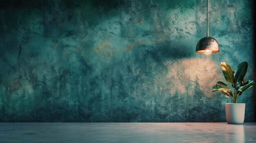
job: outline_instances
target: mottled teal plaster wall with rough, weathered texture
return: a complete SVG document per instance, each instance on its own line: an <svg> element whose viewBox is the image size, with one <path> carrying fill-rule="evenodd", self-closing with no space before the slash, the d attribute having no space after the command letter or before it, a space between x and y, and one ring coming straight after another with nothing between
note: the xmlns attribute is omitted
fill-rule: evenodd
<svg viewBox="0 0 256 143"><path fill-rule="evenodd" d="M0 122L225 122L220 62L254 73L251 0L0 2ZM255 121L253 90L245 121Z"/></svg>

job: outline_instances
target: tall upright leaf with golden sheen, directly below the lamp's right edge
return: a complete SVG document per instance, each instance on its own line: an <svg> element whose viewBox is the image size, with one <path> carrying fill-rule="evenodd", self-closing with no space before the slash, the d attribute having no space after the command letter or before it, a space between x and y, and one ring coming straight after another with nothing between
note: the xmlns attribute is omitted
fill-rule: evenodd
<svg viewBox="0 0 256 143"><path fill-rule="evenodd" d="M232 68L226 62L221 62L220 65L226 81L231 82L232 86L234 87L236 83L234 73L233 73L234 70L232 70Z"/></svg>

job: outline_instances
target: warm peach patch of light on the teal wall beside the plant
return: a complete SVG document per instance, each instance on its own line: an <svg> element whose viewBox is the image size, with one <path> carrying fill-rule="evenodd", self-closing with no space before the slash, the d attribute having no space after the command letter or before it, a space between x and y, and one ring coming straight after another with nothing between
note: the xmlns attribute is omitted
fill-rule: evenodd
<svg viewBox="0 0 256 143"><path fill-rule="evenodd" d="M222 78L222 73L218 70L218 63L211 58L168 60L164 65L168 69L166 81L170 82L163 89L170 90L170 95L186 95L187 92L193 92L193 95L204 94L209 98L217 98L217 94L212 92L212 87Z"/></svg>

